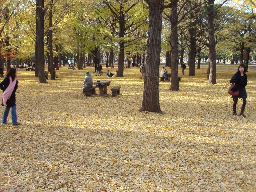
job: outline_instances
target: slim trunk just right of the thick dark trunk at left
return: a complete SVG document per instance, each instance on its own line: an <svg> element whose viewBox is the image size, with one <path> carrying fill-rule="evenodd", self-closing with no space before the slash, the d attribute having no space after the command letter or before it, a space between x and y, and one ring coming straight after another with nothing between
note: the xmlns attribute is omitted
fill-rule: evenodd
<svg viewBox="0 0 256 192"><path fill-rule="evenodd" d="M50 66L51 66L51 79L55 80L55 71L54 71L54 67L53 67L53 46L52 46L52 6L53 6L53 0L49 1L49 31L48 31L48 35L49 35L49 60L48 62L50 62ZM49 63L48 63L49 65ZM55 65L56 66L56 65Z"/></svg>

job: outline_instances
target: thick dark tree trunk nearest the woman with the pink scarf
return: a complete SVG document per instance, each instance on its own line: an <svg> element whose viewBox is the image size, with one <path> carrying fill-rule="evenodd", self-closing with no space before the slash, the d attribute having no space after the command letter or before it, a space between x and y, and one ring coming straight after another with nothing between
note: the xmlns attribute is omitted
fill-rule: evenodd
<svg viewBox="0 0 256 192"><path fill-rule="evenodd" d="M47 83L44 74L44 0L37 0L38 10L38 83Z"/></svg>

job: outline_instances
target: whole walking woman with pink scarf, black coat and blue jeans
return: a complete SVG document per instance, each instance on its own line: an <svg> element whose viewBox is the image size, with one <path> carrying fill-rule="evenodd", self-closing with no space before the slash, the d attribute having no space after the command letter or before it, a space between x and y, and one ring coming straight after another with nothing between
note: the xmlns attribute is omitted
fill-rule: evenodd
<svg viewBox="0 0 256 192"><path fill-rule="evenodd" d="M10 68L6 74L6 78L0 83L0 89L3 90L2 106L5 106L4 115L1 123L7 124L7 117L10 109L12 114L12 124L20 125L17 122L16 113L16 90L18 89L17 71L16 68Z"/></svg>

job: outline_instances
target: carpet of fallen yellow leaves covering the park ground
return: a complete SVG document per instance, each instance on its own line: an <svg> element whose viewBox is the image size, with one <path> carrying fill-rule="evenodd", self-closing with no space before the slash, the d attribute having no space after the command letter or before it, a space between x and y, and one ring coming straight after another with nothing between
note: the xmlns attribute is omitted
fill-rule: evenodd
<svg viewBox="0 0 256 192"><path fill-rule="evenodd" d="M206 67L192 77L187 68L180 91L159 83L164 115L139 112L139 68L111 78L104 97L98 88L81 93L92 67L62 67L48 84L18 69L21 125L9 115L0 128L0 191L255 191L256 66L247 73L247 118L232 115L227 93L237 65L218 65L217 84ZM105 75L92 74L94 82ZM114 86L121 95L111 97Z"/></svg>

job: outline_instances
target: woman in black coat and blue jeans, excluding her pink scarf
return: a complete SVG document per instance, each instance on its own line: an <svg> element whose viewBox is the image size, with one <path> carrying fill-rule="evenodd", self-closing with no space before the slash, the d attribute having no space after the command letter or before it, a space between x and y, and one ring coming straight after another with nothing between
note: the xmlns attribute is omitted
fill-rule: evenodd
<svg viewBox="0 0 256 192"><path fill-rule="evenodd" d="M0 83L0 89L3 90L3 92L7 89L7 87L10 85L10 77L12 79L12 81L16 80L16 84L14 85L14 89L11 93L11 96L9 99L7 99L6 101L6 107L4 110L4 115L2 118L1 123L2 124L7 124L7 117L10 111L10 108L12 108L11 110L11 114L12 114L12 124L13 125L20 125L20 123L17 122L17 114L16 114L16 90L18 88L18 81L16 79L17 76L17 72L16 72L16 68L10 68L6 74L6 78ZM13 82L15 83L15 82ZM2 106L3 105L3 99L2 99Z"/></svg>

